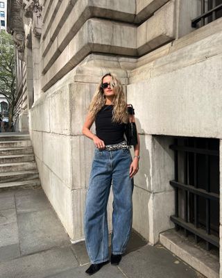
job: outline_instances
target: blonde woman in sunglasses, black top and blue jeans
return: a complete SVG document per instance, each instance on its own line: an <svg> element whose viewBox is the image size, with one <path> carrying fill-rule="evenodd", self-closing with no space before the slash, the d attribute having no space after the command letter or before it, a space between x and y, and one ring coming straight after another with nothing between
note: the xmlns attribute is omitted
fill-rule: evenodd
<svg viewBox="0 0 222 278"><path fill-rule="evenodd" d="M83 126L83 134L96 147L89 179L85 207L85 243L92 265L86 270L92 275L109 262L107 204L112 183L114 196L112 213L111 263L118 265L126 250L132 226L133 176L139 170L139 138L131 158L130 146L124 140L129 113L123 87L114 74L105 74ZM90 131L95 121L96 135Z"/></svg>

